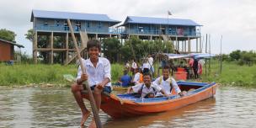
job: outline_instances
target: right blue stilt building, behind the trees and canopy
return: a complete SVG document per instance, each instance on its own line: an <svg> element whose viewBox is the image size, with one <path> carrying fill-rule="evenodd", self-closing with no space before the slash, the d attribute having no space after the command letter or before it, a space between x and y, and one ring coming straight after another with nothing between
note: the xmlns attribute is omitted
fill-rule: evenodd
<svg viewBox="0 0 256 128"><path fill-rule="evenodd" d="M191 40L196 40L196 51L201 51L200 24L190 19L163 19L128 16L120 25L122 34L136 35L141 40L173 40L178 51L191 52ZM198 40L199 39L199 40Z"/></svg>

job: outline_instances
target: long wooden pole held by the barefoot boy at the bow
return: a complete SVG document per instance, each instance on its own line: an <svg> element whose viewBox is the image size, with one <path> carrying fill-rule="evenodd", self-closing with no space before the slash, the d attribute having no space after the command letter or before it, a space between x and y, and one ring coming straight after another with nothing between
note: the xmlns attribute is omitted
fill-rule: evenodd
<svg viewBox="0 0 256 128"><path fill-rule="evenodd" d="M85 71L85 68L83 67L83 62L82 62L82 59L81 59L81 56L80 56L80 51L79 51L78 46L77 46L77 40L76 40L76 38L75 38L74 31L73 31L73 28L72 28L72 24L71 24L71 22L70 22L70 19L67 19L67 24L68 24L68 27L69 27L69 29L70 29L70 31L71 31L72 40L73 40L73 42L74 42L74 44L75 44L75 48L76 48L76 51L77 51L77 56L78 56L78 59L79 59L79 61L80 61L80 67L81 67L81 69L82 69L83 74L85 74L86 71ZM97 107L96 107L96 104L95 104L95 101L94 101L94 99L93 99L92 90L91 90L91 88L89 87L88 81L83 82L83 84L85 85L86 89L88 90L88 95L89 95L89 99L90 99L90 104L91 104L92 109L93 109L93 117L94 117L94 119L95 119L96 125L97 125L98 128L102 128L101 122L100 122L100 120L99 120L99 111L98 111L98 109L97 109Z"/></svg>

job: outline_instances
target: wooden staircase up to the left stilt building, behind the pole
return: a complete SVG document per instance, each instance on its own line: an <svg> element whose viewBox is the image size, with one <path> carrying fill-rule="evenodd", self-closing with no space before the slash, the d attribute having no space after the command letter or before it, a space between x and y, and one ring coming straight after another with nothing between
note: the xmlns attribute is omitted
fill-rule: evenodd
<svg viewBox="0 0 256 128"><path fill-rule="evenodd" d="M88 42L88 35L87 35L86 30L80 31L79 34L80 34L81 41L82 41L81 47L79 47L79 52L81 54L82 51L86 50L86 46L87 46L87 42ZM72 55L72 58L65 62L65 65L68 65L69 63L71 63L75 58L77 58L77 53L74 53Z"/></svg>

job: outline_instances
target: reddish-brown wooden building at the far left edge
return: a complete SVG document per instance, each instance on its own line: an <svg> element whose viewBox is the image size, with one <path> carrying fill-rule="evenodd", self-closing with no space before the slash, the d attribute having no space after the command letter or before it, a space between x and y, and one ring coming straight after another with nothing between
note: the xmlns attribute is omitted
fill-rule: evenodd
<svg viewBox="0 0 256 128"><path fill-rule="evenodd" d="M0 61L19 61L14 58L14 46L24 48L15 42L0 39Z"/></svg>

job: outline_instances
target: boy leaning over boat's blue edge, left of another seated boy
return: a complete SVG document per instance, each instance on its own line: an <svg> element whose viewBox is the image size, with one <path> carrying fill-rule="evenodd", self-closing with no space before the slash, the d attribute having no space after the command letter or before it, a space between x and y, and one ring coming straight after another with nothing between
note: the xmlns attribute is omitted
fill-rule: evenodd
<svg viewBox="0 0 256 128"><path fill-rule="evenodd" d="M147 99L153 98L155 97L156 93L161 92L163 95L168 97L168 94L165 93L162 88L152 85L151 75L149 72L143 74L143 82L144 83L136 84L135 86L128 88L127 93L131 93L131 91L133 91L134 93L139 93L141 98Z"/></svg>

